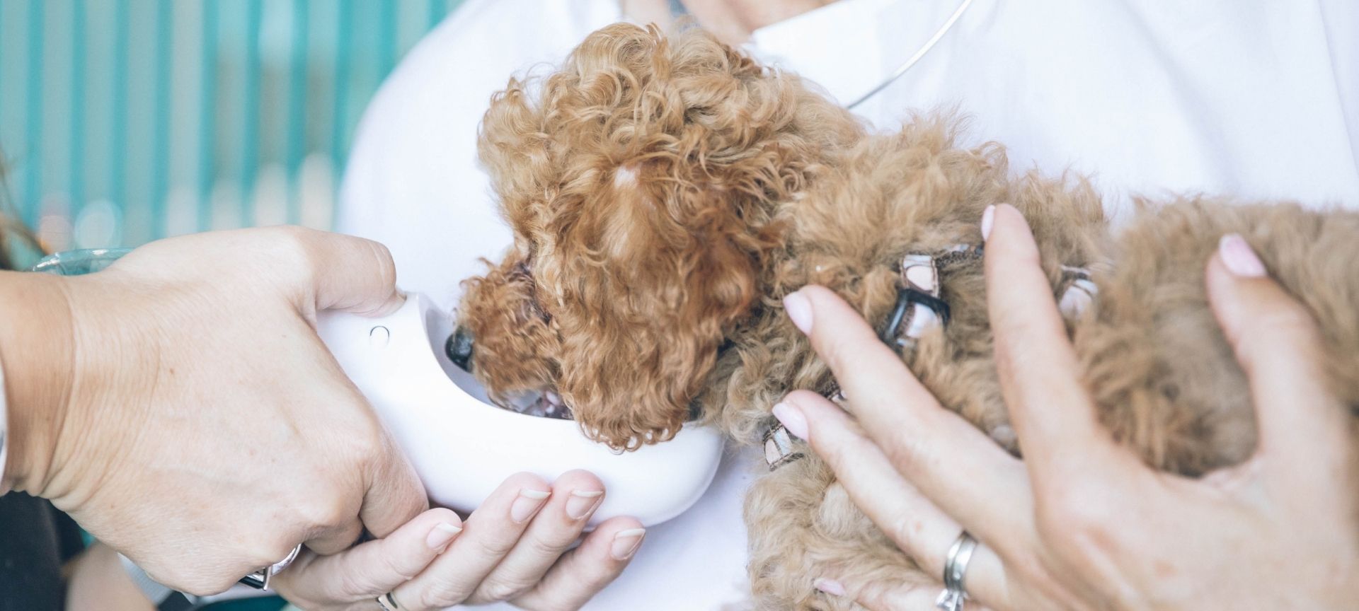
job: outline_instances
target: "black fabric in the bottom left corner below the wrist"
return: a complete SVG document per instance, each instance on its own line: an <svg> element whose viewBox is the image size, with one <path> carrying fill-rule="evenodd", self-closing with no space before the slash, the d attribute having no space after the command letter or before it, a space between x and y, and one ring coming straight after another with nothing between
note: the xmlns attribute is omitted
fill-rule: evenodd
<svg viewBox="0 0 1359 611"><path fill-rule="evenodd" d="M61 565L83 547L80 528L50 502L0 497L0 611L63 608Z"/></svg>

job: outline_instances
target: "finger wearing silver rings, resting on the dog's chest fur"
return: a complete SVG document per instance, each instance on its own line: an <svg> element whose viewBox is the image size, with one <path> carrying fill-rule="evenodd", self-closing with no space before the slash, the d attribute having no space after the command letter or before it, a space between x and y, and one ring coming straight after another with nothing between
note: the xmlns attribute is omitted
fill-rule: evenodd
<svg viewBox="0 0 1359 611"><path fill-rule="evenodd" d="M790 409L798 410L798 414L791 414ZM853 504L911 557L924 574L935 580L943 578L949 547L962 532L962 527L905 481L853 420L834 403L809 391L790 394L783 403L775 406L775 415L780 421L802 417L807 428L803 439L836 474L836 479L849 493ZM784 422L784 426L788 424ZM798 425L788 426L794 434L796 434L792 430L795 426ZM1022 470L1019 474L1025 475ZM981 474L972 477L977 475ZM988 536L989 531L972 532L983 539L1010 543L1021 539L1019 532L1031 532L1027 519L1033 511L1029 506L1007 506L1006 512L1022 525L1003 525L998 528L1003 535L995 536ZM999 561L983 563L977 562L974 555L968 572L968 591L981 600L1004 601L1004 573ZM900 597L905 596L909 588L890 592ZM938 593L938 589L934 593ZM872 608L863 599L858 600Z"/></svg>

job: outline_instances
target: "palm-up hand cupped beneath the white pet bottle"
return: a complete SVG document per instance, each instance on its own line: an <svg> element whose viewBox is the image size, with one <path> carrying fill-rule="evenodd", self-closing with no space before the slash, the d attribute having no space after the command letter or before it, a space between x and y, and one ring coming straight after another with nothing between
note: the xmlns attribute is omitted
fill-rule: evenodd
<svg viewBox="0 0 1359 611"><path fill-rule="evenodd" d="M644 536L637 520L614 517L568 551L603 493L586 471L550 487L512 475L465 524L448 509L429 509L386 539L336 555L303 553L275 584L292 603L321 611L374 611L389 592L402 611L500 600L575 610L622 572Z"/></svg>

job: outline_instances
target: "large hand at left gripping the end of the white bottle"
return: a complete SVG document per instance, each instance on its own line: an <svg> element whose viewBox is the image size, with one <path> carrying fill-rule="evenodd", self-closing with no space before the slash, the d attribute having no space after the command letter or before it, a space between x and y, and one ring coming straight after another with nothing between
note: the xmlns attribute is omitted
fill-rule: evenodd
<svg viewBox="0 0 1359 611"><path fill-rule="evenodd" d="M333 554L428 506L314 330L318 310L400 307L381 244L212 232L90 276L7 280L46 322L0 337L15 424L7 481L155 580L219 592L299 543Z"/></svg>

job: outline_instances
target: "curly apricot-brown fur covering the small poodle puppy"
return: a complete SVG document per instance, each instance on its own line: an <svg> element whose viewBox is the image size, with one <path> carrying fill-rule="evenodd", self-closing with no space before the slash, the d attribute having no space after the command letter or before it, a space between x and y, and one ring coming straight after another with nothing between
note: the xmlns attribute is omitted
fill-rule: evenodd
<svg viewBox="0 0 1359 611"><path fill-rule="evenodd" d="M1223 234L1243 235L1311 310L1333 391L1359 405L1359 217L1185 198L1140 202L1112 236L1083 179L1015 178L1000 145L959 147L957 129L938 115L868 133L810 84L701 31L591 34L537 87L511 80L485 115L480 153L515 243L466 284L473 372L496 398L554 390L614 448L671 437L694 406L757 443L783 395L832 384L784 295L821 284L877 325L904 254L980 243L984 208L1010 202L1055 292L1063 265L1097 270L1094 306L1068 326L1104 424L1148 464L1197 475L1254 447L1246 380L1203 285ZM905 361L942 405L1018 453L980 261L940 282L951 322ZM813 589L821 574L938 581L806 453L760 478L746 502L761 608L847 606Z"/></svg>

